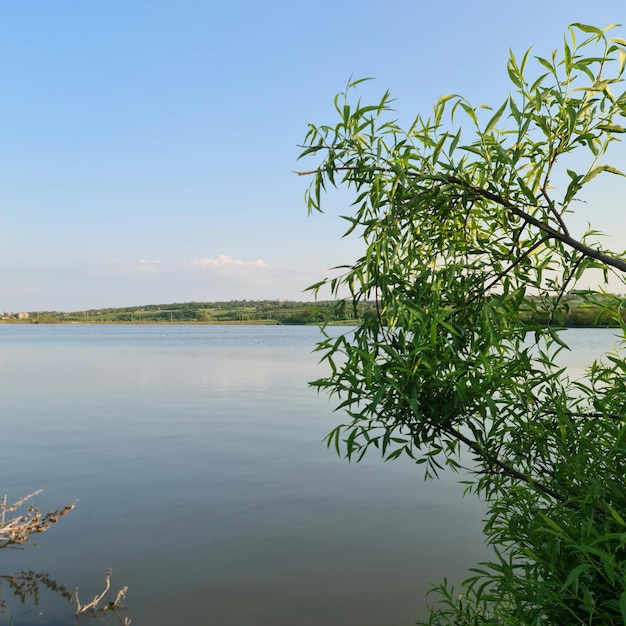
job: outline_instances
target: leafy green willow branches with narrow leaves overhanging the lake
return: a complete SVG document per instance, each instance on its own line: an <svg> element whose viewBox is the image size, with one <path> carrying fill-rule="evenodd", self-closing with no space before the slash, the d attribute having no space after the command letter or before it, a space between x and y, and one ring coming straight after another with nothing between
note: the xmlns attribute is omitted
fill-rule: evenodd
<svg viewBox="0 0 626 626"><path fill-rule="evenodd" d="M602 161L626 131L626 40L608 30L575 24L546 58L511 55L495 112L449 95L403 130L388 94L353 99L356 81L306 135L302 157L323 157L302 172L309 210L347 186L347 234L365 243L312 289L376 302L318 346L329 373L313 385L347 416L328 445L408 455L431 477L470 464L488 507L492 559L462 593L439 588L430 624L626 624L626 362L598 355L583 380L555 364L572 308L626 337L620 297L573 291L589 270L623 284L624 255L567 227L596 176L622 175Z"/></svg>

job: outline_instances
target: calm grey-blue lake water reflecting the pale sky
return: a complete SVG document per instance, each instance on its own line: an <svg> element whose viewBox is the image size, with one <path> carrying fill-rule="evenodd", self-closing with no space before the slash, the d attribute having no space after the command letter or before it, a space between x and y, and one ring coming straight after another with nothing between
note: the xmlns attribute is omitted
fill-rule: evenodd
<svg viewBox="0 0 626 626"><path fill-rule="evenodd" d="M409 462L354 465L322 445L341 415L307 387L324 373L318 337L0 325L0 494L41 488L44 511L78 500L38 546L0 552L0 624L74 624L44 573L85 602L107 567L129 587L133 626L424 617L430 581L461 580L485 557L482 507L462 497L462 476L424 483ZM611 338L567 331L563 359L582 371ZM38 602L12 592L24 572Z"/></svg>

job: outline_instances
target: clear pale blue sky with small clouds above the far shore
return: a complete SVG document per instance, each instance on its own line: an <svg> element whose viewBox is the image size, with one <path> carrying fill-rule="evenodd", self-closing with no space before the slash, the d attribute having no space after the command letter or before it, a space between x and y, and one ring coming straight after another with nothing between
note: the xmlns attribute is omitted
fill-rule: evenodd
<svg viewBox="0 0 626 626"><path fill-rule="evenodd" d="M0 311L308 297L359 251L345 197L307 217L293 174L350 75L407 118L449 92L495 105L509 47L548 53L576 21L626 23L626 5L4 0ZM584 219L623 249L616 184Z"/></svg>

